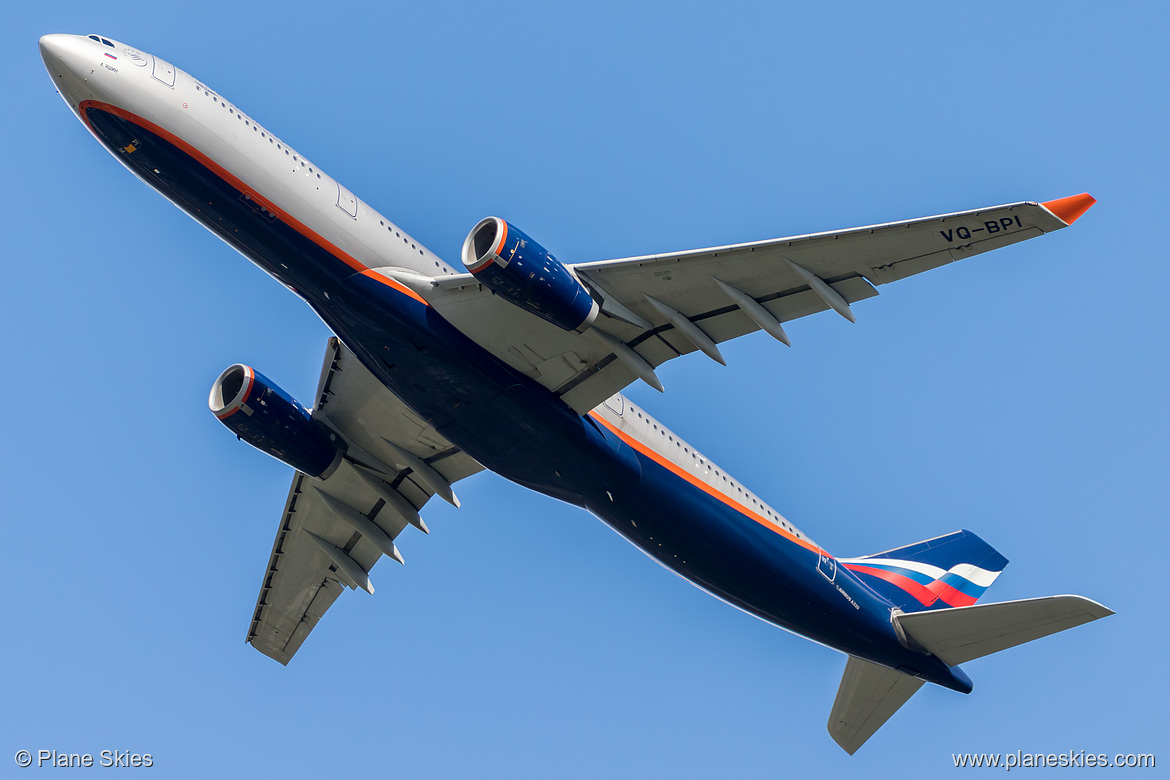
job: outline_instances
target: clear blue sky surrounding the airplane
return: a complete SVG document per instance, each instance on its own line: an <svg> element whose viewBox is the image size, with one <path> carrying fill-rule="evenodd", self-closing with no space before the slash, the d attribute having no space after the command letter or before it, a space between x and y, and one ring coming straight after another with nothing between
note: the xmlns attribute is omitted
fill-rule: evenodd
<svg viewBox="0 0 1170 780"><path fill-rule="evenodd" d="M7 14L0 767L20 748L151 753L168 778L1170 761L1168 12L758 5ZM243 637L290 470L206 396L246 361L311 400L328 333L84 132L37 55L57 32L193 73L448 260L488 214L587 261L1093 193L1074 228L881 288L855 325L746 337L728 367L675 361L665 395L631 395L838 555L968 527L1012 561L986 600L1117 615L966 664L972 695L923 689L848 758L825 731L844 656L484 474L280 667Z"/></svg>

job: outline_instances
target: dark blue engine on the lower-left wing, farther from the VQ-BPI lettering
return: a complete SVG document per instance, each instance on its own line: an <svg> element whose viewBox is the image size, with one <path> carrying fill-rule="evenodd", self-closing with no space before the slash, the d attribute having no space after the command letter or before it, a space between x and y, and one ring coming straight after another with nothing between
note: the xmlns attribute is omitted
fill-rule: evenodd
<svg viewBox="0 0 1170 780"><path fill-rule="evenodd" d="M220 374L207 405L236 436L310 477L328 477L342 462L337 434L249 366Z"/></svg>

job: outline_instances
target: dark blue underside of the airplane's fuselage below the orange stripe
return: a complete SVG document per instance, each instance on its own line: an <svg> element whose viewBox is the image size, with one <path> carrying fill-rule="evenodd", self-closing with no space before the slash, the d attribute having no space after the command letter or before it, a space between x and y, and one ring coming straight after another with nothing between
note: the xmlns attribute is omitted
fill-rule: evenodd
<svg viewBox="0 0 1170 780"><path fill-rule="evenodd" d="M889 602L844 567L837 567L835 581L820 575L815 552L635 453L432 308L355 272L261 212L166 139L95 108L87 119L113 154L295 290L395 395L486 468L587 508L665 566L769 622L966 688L936 658L904 649L889 622ZM135 151L122 151L130 144Z"/></svg>

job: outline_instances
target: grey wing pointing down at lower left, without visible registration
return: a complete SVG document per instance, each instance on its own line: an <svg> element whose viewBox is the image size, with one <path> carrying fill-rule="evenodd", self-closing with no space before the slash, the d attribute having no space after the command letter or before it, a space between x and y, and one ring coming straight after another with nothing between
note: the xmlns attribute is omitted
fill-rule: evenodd
<svg viewBox="0 0 1170 780"><path fill-rule="evenodd" d="M247 641L287 664L344 587L373 593L370 570L434 493L482 470L411 412L337 338L329 340L312 416L347 446L325 479L297 472Z"/></svg>

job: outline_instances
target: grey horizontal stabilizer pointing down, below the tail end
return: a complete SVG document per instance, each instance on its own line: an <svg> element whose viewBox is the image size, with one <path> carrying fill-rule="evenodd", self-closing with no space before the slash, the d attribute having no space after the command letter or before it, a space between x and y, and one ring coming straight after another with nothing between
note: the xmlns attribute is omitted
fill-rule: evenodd
<svg viewBox="0 0 1170 780"><path fill-rule="evenodd" d="M853 755L920 688L917 677L849 656L828 716L828 734Z"/></svg>

